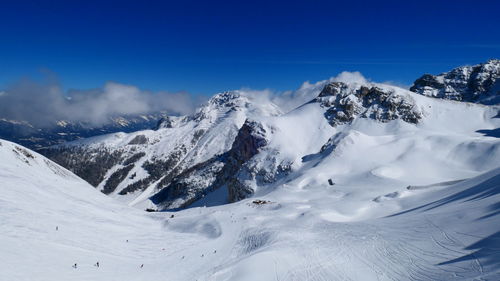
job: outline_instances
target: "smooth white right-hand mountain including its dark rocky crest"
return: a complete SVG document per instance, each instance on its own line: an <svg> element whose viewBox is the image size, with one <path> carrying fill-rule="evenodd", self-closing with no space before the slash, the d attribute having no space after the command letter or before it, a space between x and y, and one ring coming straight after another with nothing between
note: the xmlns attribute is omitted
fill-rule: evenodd
<svg viewBox="0 0 500 281"><path fill-rule="evenodd" d="M387 186L457 180L500 165L500 139L480 133L500 127L498 106L374 83L333 86L340 92L259 119L267 145L243 165L233 189L265 194L304 176L303 186L332 179L370 196ZM388 99L370 99L363 94L369 88Z"/></svg>

